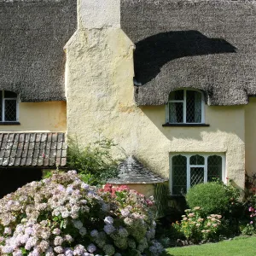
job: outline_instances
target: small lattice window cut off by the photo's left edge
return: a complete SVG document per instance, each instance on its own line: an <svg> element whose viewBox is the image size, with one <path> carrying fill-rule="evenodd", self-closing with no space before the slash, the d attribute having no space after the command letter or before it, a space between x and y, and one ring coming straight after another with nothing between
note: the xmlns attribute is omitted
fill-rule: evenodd
<svg viewBox="0 0 256 256"><path fill-rule="evenodd" d="M18 101L15 92L0 90L0 122L18 121Z"/></svg>

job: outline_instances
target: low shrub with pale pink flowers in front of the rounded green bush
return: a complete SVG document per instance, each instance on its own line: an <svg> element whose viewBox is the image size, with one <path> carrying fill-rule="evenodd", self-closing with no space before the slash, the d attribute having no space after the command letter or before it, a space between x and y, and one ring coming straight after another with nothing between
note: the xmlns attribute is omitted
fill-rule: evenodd
<svg viewBox="0 0 256 256"><path fill-rule="evenodd" d="M194 207L193 210L185 210L182 221L172 224L188 241L198 243L200 241L217 241L221 227L221 215L211 214L207 218L201 217L201 207Z"/></svg>

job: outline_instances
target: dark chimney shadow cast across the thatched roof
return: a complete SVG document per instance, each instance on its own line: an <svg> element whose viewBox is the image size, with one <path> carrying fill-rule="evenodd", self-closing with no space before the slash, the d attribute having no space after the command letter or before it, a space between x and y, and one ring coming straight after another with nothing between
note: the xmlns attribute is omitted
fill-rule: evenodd
<svg viewBox="0 0 256 256"><path fill-rule="evenodd" d="M198 31L162 32L136 44L135 77L147 84L167 62L185 56L236 53L236 47L222 38L207 38Z"/></svg>

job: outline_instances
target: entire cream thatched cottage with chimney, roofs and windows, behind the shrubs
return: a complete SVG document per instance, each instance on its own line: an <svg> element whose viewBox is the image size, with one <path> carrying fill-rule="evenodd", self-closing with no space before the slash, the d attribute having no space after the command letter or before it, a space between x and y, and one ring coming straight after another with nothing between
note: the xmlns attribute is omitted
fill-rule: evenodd
<svg viewBox="0 0 256 256"><path fill-rule="evenodd" d="M87 144L101 128L132 155L112 183L147 195L212 177L244 188L256 1L75 2L0 0L1 172L65 166L64 133Z"/></svg>

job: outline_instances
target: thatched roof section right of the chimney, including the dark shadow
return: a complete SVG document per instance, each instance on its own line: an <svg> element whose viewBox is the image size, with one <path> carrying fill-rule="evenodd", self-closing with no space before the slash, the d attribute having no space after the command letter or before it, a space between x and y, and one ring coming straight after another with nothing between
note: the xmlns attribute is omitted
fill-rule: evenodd
<svg viewBox="0 0 256 256"><path fill-rule="evenodd" d="M138 105L172 90L204 90L210 105L256 95L256 1L121 0L121 27L136 44Z"/></svg>

